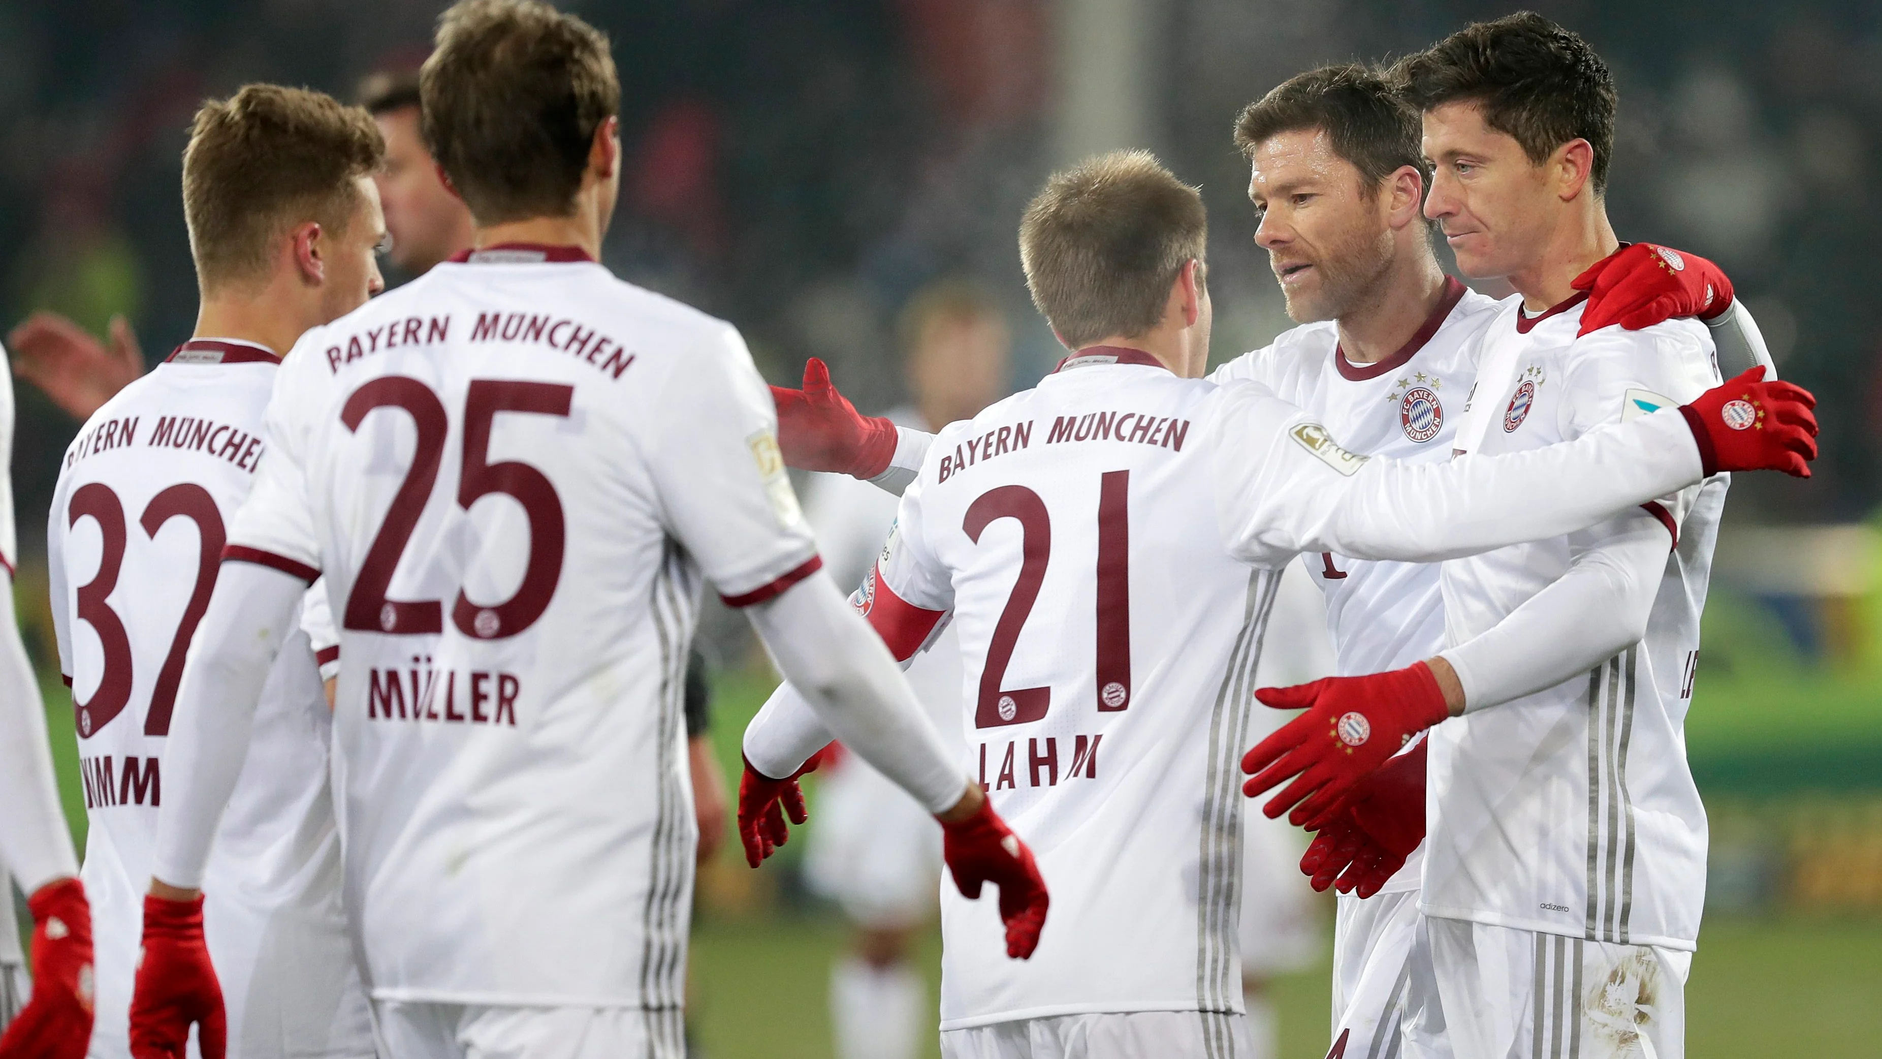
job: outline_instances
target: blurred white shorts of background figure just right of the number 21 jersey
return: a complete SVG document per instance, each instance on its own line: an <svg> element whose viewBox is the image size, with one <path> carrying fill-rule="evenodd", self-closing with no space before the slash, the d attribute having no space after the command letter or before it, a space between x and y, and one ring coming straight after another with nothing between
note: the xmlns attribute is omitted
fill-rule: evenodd
<svg viewBox="0 0 1882 1059"><path fill-rule="evenodd" d="M1304 970L1319 957L1321 906L1300 874L1306 833L1242 803L1242 976Z"/></svg>

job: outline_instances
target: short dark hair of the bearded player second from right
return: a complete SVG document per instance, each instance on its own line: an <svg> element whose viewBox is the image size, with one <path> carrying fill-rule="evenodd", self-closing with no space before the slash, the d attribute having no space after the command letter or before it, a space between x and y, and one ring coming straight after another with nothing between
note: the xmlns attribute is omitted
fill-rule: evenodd
<svg viewBox="0 0 1882 1059"><path fill-rule="evenodd" d="M1321 66L1282 81L1236 115L1235 145L1253 156L1267 139L1306 128L1325 130L1332 153L1359 170L1366 194L1404 166L1430 183L1417 111L1366 66Z"/></svg>

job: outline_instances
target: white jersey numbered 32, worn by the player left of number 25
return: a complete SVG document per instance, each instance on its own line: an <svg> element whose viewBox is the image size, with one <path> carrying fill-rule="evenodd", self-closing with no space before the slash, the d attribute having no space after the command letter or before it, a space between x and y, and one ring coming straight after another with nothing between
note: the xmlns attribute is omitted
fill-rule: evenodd
<svg viewBox="0 0 1882 1059"><path fill-rule="evenodd" d="M66 448L53 496L53 626L90 816L81 876L96 944L94 1057L128 1055L177 682L226 526L265 450L262 411L277 364L247 343L184 343L92 415ZM233 1055L279 1055L282 1033L307 1055L371 1050L341 908L329 731L314 652L305 633L290 637L203 884Z"/></svg>

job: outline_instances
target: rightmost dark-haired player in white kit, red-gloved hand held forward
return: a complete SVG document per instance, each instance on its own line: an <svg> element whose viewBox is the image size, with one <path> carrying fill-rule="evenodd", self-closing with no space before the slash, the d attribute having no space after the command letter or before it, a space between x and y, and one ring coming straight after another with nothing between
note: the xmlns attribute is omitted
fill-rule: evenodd
<svg viewBox="0 0 1882 1059"><path fill-rule="evenodd" d="M1459 268L1519 292L1479 339L1453 441L1462 462L1716 383L1696 322L1590 328L1575 277L1619 247L1602 204L1615 92L1581 38L1513 15L1400 73L1436 166L1427 217ZM1686 268L1649 251L1656 268ZM1724 415L1745 433L1765 428L1748 403ZM1327 782L1297 822L1353 773L1329 765L1329 718L1364 718L1389 739L1436 724L1408 1055L1683 1053L1705 814L1681 729L1726 484L1709 477L1581 533L1445 563L1449 646L1428 663L1263 690L1270 705L1312 707L1246 763L1261 771L1250 793L1306 769L1270 812Z"/></svg>

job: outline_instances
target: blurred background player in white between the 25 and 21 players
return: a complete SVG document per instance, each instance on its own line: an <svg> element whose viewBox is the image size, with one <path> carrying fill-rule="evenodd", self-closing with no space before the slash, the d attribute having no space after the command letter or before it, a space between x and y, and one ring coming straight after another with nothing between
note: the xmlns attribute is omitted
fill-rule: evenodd
<svg viewBox="0 0 1882 1059"><path fill-rule="evenodd" d="M901 313L909 405L888 418L920 430L973 418L1007 392L1011 334L977 286L941 281ZM896 520L896 497L847 475L813 475L804 514L839 586L860 584ZM943 629L907 669L915 697L960 754L960 643ZM830 972L837 1059L913 1059L935 1035L917 931L937 910L941 829L909 795L854 754L822 765L809 829L809 886L841 904L854 944Z"/></svg>

